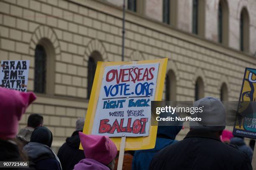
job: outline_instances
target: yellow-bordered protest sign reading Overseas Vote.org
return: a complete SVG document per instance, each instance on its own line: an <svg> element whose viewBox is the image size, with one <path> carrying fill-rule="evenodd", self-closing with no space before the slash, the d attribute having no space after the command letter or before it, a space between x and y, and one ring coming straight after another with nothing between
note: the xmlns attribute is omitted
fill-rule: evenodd
<svg viewBox="0 0 256 170"><path fill-rule="evenodd" d="M83 133L115 137L118 149L123 136L125 150L154 148L151 101L161 100L166 65L167 59L98 62Z"/></svg>

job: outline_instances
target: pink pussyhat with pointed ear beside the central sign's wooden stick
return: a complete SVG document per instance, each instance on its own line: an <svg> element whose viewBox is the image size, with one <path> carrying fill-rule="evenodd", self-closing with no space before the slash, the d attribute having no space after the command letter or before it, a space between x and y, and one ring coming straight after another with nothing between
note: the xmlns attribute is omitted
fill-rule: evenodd
<svg viewBox="0 0 256 170"><path fill-rule="evenodd" d="M85 135L79 132L79 138L86 159L97 160L104 165L108 165L115 159L117 148L108 136Z"/></svg>

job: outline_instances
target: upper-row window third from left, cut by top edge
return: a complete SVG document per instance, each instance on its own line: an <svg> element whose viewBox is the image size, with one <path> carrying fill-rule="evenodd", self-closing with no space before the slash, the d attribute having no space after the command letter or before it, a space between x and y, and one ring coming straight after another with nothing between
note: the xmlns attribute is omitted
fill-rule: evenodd
<svg viewBox="0 0 256 170"><path fill-rule="evenodd" d="M205 0L193 0L192 2L192 33L205 35Z"/></svg>

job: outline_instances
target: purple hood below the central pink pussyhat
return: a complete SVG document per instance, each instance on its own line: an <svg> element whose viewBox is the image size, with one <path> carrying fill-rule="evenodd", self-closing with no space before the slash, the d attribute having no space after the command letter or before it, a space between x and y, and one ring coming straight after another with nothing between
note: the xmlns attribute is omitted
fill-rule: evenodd
<svg viewBox="0 0 256 170"><path fill-rule="evenodd" d="M82 159L74 166L74 170L110 170L110 168L93 159Z"/></svg>

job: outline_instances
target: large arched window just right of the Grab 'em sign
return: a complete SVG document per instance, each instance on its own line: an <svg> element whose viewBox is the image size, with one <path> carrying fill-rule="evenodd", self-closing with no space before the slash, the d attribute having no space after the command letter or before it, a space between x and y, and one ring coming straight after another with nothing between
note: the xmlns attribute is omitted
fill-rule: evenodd
<svg viewBox="0 0 256 170"><path fill-rule="evenodd" d="M34 92L54 95L55 50L47 38L39 40L35 49Z"/></svg>

